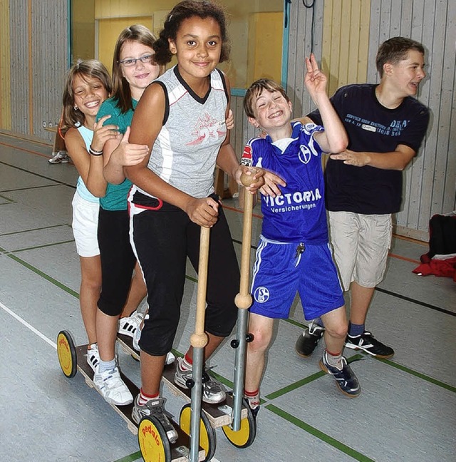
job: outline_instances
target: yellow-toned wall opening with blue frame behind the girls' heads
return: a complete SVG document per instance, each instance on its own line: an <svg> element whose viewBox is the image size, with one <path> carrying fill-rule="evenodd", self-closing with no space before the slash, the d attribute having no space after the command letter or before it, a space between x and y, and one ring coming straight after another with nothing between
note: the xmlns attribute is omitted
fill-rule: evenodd
<svg viewBox="0 0 456 462"><path fill-rule="evenodd" d="M219 65L232 88L257 78L281 82L284 68L284 0L224 0L229 19L230 59ZM115 40L130 24L158 34L174 0L72 0L72 59L97 58L110 69Z"/></svg>

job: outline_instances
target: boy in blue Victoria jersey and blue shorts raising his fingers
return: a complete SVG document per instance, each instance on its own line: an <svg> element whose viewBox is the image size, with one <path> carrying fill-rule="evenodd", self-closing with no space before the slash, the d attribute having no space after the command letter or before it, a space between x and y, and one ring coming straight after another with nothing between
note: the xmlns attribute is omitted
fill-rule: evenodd
<svg viewBox="0 0 456 462"><path fill-rule="evenodd" d="M268 79L252 83L244 98L249 123L266 138L249 141L241 163L264 168L285 182L281 195L261 195L264 219L254 265L247 349L245 397L257 414L264 354L274 319L289 317L296 291L306 319L321 317L326 349L320 361L347 396L361 387L342 356L348 322L341 284L328 245L322 153L338 153L348 143L346 131L326 93L326 76L314 55L306 58L306 88L320 110L323 126L291 123L291 101L281 86ZM267 175L267 174L266 174ZM266 181L266 183L268 183ZM264 192L268 187L261 188Z"/></svg>

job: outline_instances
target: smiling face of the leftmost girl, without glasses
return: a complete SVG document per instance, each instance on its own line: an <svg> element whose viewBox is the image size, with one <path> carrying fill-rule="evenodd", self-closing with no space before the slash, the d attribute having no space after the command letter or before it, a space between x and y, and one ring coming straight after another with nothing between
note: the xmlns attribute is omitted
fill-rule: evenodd
<svg viewBox="0 0 456 462"><path fill-rule="evenodd" d="M95 118L101 103L108 98L108 90L98 78L76 74L73 80L73 98L86 120Z"/></svg>

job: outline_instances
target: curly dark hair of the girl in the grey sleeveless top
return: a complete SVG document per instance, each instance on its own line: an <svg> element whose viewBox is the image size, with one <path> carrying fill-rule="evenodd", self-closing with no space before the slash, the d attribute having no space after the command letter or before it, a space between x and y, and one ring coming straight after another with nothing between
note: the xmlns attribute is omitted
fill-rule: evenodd
<svg viewBox="0 0 456 462"><path fill-rule="evenodd" d="M172 53L170 51L169 39L175 41L182 21L192 16L198 16L201 19L212 18L217 21L220 26L220 34L222 34L222 51L219 63L227 61L230 44L227 34L227 18L222 6L208 0L184 0L168 13L165 24L163 24L163 29L160 31L160 36L153 44L155 62L157 64L165 65L171 61Z"/></svg>

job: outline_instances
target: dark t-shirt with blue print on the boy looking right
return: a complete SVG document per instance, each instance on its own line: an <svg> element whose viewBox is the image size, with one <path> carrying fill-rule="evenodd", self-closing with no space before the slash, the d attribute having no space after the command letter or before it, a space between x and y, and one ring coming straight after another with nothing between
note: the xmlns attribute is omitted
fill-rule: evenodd
<svg viewBox="0 0 456 462"><path fill-rule="evenodd" d="M348 149L357 152L388 153L400 145L418 151L429 122L428 109L407 97L398 108L382 106L375 96L375 84L343 86L331 98L348 133ZM309 114L321 124L318 110ZM365 215L395 213L402 202L402 172L365 165L346 165L328 159L325 171L326 208Z"/></svg>

